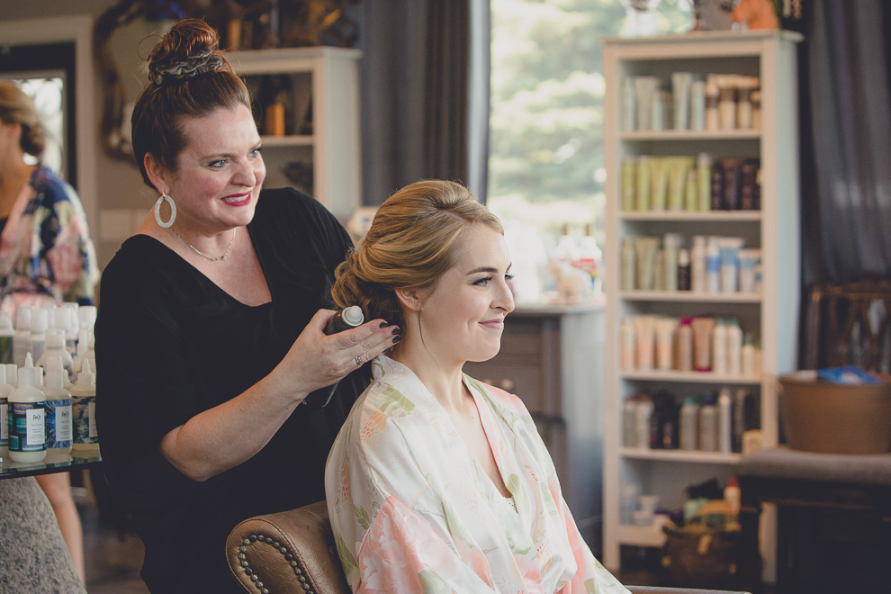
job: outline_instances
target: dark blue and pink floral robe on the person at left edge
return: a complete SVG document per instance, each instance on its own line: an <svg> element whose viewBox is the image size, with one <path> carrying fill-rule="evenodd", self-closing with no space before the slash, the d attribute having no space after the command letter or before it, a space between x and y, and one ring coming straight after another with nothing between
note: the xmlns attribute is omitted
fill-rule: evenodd
<svg viewBox="0 0 891 594"><path fill-rule="evenodd" d="M99 281L84 207L74 188L37 166L0 234L0 309L93 303Z"/></svg>

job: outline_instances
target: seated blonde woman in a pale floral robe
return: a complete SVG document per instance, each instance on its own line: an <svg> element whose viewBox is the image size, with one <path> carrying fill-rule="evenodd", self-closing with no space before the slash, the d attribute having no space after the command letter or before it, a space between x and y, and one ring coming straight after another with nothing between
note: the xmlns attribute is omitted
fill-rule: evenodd
<svg viewBox="0 0 891 594"><path fill-rule="evenodd" d="M402 330L326 467L356 592L627 591L581 539L523 402L462 374L499 351L509 268L498 219L439 181L393 194L338 268L338 306Z"/></svg>

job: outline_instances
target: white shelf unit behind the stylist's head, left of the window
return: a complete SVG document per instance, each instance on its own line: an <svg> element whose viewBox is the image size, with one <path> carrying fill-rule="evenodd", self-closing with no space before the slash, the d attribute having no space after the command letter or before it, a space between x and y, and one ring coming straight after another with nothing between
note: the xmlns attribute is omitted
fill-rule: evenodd
<svg viewBox="0 0 891 594"><path fill-rule="evenodd" d="M312 134L263 136L266 187L293 185L284 166L312 167L312 195L347 220L362 204L358 49L284 48L234 51L239 76L292 76L295 103L311 102ZM302 95L302 98L301 98Z"/></svg>

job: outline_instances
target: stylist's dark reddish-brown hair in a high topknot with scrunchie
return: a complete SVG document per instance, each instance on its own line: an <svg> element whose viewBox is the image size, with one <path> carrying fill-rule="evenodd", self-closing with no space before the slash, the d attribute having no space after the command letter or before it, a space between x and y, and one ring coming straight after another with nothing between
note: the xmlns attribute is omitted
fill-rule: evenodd
<svg viewBox="0 0 891 594"><path fill-rule="evenodd" d="M250 111L250 94L238 78L220 36L199 19L176 23L148 53L148 85L133 106L133 155L143 181L151 186L145 156L167 171L176 171L176 157L187 139L183 117L201 117L238 104Z"/></svg>

